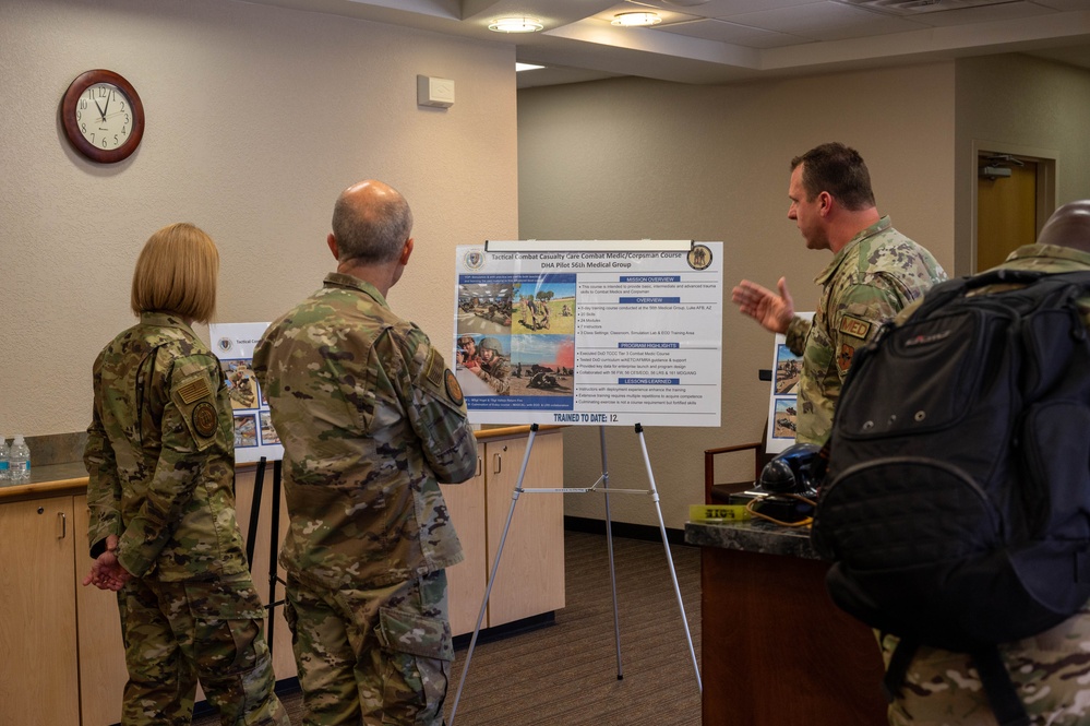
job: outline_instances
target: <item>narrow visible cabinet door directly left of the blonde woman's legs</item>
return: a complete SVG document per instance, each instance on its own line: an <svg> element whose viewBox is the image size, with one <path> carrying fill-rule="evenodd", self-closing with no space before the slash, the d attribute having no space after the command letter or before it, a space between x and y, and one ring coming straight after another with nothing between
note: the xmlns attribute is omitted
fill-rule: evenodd
<svg viewBox="0 0 1090 726"><path fill-rule="evenodd" d="M87 496L74 498L75 605L80 632L80 713L83 726L107 726L121 721L121 698L129 673L124 667L121 616L117 594L83 586L93 560L87 543L91 512Z"/></svg>

